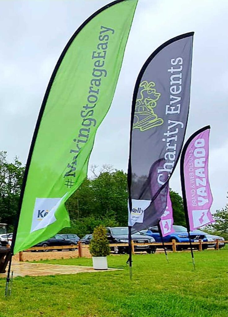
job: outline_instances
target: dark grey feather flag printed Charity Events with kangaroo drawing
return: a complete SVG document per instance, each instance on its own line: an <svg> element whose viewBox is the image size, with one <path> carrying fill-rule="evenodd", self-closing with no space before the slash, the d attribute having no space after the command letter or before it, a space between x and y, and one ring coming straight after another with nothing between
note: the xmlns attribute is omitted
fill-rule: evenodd
<svg viewBox="0 0 228 317"><path fill-rule="evenodd" d="M156 49L136 81L128 165L131 232L157 225L182 149L189 112L193 32Z"/></svg>

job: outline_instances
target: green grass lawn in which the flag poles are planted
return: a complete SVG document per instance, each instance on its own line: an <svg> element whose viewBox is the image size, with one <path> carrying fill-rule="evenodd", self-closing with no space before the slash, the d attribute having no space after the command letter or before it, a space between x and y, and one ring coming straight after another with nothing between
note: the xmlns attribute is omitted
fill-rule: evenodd
<svg viewBox="0 0 228 317"><path fill-rule="evenodd" d="M0 317L226 317L228 249L190 253L134 255L133 279L127 256L109 256L114 272L17 277L4 298L0 279ZM92 265L87 258L42 261Z"/></svg>

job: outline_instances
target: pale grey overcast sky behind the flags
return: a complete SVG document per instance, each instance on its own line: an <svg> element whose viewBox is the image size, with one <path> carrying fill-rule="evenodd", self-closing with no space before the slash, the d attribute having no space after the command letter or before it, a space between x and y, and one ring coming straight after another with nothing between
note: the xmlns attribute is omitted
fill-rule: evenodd
<svg viewBox="0 0 228 317"><path fill-rule="evenodd" d="M0 150L25 164L47 84L68 39L107 0L0 2ZM112 106L95 139L90 165L127 171L131 100L137 75L163 42L194 31L186 139L211 125L212 212L228 190L228 1L139 0ZM121 119L119 113L121 112ZM118 119L118 120L117 120ZM181 193L179 165L171 178Z"/></svg>

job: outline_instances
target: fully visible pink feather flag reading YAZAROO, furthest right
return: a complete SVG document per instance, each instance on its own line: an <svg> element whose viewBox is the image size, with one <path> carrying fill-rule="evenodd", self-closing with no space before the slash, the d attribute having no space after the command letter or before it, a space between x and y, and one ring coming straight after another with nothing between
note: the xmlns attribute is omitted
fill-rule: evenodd
<svg viewBox="0 0 228 317"><path fill-rule="evenodd" d="M181 154L181 186L189 230L212 223L213 202L208 179L210 126L195 132Z"/></svg>

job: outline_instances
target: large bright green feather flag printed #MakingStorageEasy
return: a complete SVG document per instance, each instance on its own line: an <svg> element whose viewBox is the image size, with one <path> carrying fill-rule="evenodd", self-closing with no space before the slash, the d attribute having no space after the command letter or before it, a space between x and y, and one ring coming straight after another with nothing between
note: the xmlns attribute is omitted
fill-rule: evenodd
<svg viewBox="0 0 228 317"><path fill-rule="evenodd" d="M65 202L87 176L136 5L137 0L114 1L98 10L75 32L57 62L26 165L14 254L70 226Z"/></svg>

